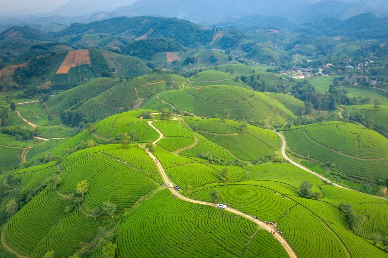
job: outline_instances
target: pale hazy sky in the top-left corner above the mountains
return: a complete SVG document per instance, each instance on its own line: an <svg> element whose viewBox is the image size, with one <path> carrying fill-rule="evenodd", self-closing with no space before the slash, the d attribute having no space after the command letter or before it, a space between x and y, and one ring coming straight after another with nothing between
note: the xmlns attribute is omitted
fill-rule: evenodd
<svg viewBox="0 0 388 258"><path fill-rule="evenodd" d="M23 15L45 13L67 3L69 0L0 0L0 15Z"/></svg>

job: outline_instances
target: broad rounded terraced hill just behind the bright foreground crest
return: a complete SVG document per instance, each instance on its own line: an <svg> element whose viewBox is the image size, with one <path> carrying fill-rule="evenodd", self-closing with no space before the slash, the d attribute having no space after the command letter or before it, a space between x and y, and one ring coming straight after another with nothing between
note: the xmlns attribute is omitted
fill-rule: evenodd
<svg viewBox="0 0 388 258"><path fill-rule="evenodd" d="M278 99L237 86L200 86L162 92L159 97L197 116L222 117L223 110L229 109L230 117L240 120L271 120L283 124L287 119L296 118Z"/></svg>

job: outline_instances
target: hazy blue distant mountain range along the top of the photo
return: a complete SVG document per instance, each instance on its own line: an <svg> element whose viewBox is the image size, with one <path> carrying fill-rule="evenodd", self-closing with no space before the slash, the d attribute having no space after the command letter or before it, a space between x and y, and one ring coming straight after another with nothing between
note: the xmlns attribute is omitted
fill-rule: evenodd
<svg viewBox="0 0 388 258"><path fill-rule="evenodd" d="M117 7L122 5L125 6ZM388 0L111 0L109 4L106 0L70 0L46 17L0 17L0 28L27 25L59 31L75 22L89 23L122 16L162 16L215 26L284 29L325 18L345 20L363 13L387 16ZM52 23L63 26L52 26Z"/></svg>

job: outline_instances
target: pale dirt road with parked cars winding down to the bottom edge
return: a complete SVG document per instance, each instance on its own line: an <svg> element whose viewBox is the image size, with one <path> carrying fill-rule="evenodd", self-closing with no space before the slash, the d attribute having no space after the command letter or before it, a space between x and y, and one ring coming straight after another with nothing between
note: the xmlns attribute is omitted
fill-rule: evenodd
<svg viewBox="0 0 388 258"><path fill-rule="evenodd" d="M156 141L153 142L153 144L156 144L159 140L161 140L161 139L163 138L163 134L162 134L162 132L161 132L159 129L157 129L157 128L152 124L152 122L154 122L154 121L149 121L148 124L149 124L153 129L155 129L155 130L159 133L159 135L160 135L160 136L159 136L159 139L157 139ZM151 156L151 158L152 158L154 161L156 161L157 158L156 158L150 151L148 151L148 149L146 149L146 152L149 154L149 156ZM168 178L167 178L167 174L166 174L166 172L164 171L164 169L163 169L161 163L160 163L160 162L156 162L156 167L158 168L160 174L162 175L163 181L165 182L166 185L168 185L169 181L168 181ZM184 200L184 201L188 201L188 202L191 202L191 203L202 204L202 205L208 205L208 206L214 207L214 204L212 204L212 203L203 202L203 201L199 201L199 200L193 200L193 199L187 198L187 197L185 197L185 196L179 194L179 192L176 191L174 188L169 188L169 189L170 189L170 191L171 191L173 194L175 194L178 198L180 198L180 199L182 199L182 200ZM229 211L229 212L231 212L231 213L240 215L240 216L242 216L242 217L244 217L244 218L246 218L246 219L249 219L250 221L253 221L253 222L256 223L257 225L261 226L263 229L267 230L268 232L271 232L271 231L275 231L275 230L276 230L276 228L275 228L274 226L272 226L272 225L267 225L265 222L260 221L260 220L258 220L258 219L254 219L252 216L247 215L247 214L245 214L245 213L243 213L243 212L241 212L241 211L238 211L238 210L236 210L236 209L233 209L233 208L231 208L231 207L227 207L225 210L226 210L226 211ZM286 242L286 240L283 238L282 235L277 234L277 235L276 235L276 239L279 240L279 241L282 241L283 247L286 249L287 253L289 254L289 256L290 256L291 258L297 258L295 252L292 250L291 246Z"/></svg>

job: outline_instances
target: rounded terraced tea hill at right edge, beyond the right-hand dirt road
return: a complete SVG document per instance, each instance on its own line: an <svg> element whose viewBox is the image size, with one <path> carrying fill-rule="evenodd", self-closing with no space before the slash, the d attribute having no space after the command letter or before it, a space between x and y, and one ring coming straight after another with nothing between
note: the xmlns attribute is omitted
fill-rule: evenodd
<svg viewBox="0 0 388 258"><path fill-rule="evenodd" d="M387 178L388 140L364 127L325 122L284 131L291 151L322 162L351 175Z"/></svg>

